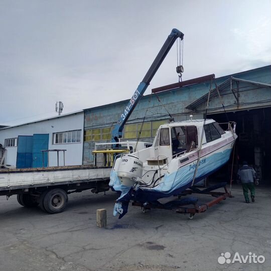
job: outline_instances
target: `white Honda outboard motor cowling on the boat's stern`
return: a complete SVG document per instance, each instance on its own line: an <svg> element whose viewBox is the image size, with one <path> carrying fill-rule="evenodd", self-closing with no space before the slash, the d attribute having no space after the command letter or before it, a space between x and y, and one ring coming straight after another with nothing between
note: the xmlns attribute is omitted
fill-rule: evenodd
<svg viewBox="0 0 271 271"><path fill-rule="evenodd" d="M121 158L117 176L124 186L133 186L137 178L142 178L143 162L132 155L123 155Z"/></svg>

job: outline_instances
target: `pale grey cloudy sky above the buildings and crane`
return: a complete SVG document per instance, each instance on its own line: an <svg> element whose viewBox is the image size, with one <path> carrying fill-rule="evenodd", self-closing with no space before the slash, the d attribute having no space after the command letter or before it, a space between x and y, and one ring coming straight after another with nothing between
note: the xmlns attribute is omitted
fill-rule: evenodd
<svg viewBox="0 0 271 271"><path fill-rule="evenodd" d="M0 0L0 124L131 97L173 28L183 80L271 64L269 0ZM178 82L172 48L149 89Z"/></svg>

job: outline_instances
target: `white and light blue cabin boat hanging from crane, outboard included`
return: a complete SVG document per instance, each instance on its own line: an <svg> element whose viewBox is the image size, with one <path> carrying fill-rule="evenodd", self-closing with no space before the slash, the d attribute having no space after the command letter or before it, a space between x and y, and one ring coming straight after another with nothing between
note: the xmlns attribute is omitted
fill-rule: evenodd
<svg viewBox="0 0 271 271"><path fill-rule="evenodd" d="M236 123L227 125L224 130L213 119L170 122L159 127L151 147L116 157L109 186L121 195L113 214L121 218L130 200L144 204L177 195L217 171L237 138Z"/></svg>

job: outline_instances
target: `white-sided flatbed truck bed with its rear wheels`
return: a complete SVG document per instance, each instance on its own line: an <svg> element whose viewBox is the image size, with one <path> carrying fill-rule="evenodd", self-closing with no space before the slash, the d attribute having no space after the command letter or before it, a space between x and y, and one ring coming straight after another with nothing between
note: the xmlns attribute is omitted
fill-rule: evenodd
<svg viewBox="0 0 271 271"><path fill-rule="evenodd" d="M91 165L48 168L0 169L0 196L17 195L25 207L40 206L48 213L62 212L68 194L109 190L111 167Z"/></svg>

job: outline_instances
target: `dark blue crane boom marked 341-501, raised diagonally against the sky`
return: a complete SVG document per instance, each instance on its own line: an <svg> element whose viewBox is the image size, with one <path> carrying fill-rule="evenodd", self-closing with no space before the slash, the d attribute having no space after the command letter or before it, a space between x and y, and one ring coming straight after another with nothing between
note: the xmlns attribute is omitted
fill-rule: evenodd
<svg viewBox="0 0 271 271"><path fill-rule="evenodd" d="M173 29L170 35L168 36L167 40L165 41L163 47L159 51L157 57L155 58L152 66L149 68L142 82L139 84L138 88L135 90L128 104L121 113L119 120L117 121L116 125L112 130L112 142L118 142L118 139L122 137L122 130L124 124L126 123L130 114L134 110L135 106L137 106L140 98L143 96L144 92L146 91L150 82L152 81L154 75L158 71L160 65L163 63L165 57L167 56L174 42L178 38L183 40L184 34L180 32L178 29Z"/></svg>

